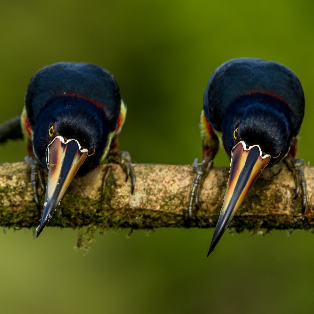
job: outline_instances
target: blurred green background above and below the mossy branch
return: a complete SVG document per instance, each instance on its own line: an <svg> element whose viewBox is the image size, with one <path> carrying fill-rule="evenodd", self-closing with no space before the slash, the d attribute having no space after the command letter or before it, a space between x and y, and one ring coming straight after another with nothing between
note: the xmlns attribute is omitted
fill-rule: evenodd
<svg viewBox="0 0 314 314"><path fill-rule="evenodd" d="M0 4L0 122L18 115L30 77L58 61L111 71L128 104L121 149L134 162L201 157L203 91L234 57L284 63L300 78L306 116L299 157L314 162L312 1L5 1ZM22 160L24 143L0 148ZM219 152L215 165L229 165ZM213 230L122 230L74 251L77 230L0 235L1 313L312 313L314 236Z"/></svg>

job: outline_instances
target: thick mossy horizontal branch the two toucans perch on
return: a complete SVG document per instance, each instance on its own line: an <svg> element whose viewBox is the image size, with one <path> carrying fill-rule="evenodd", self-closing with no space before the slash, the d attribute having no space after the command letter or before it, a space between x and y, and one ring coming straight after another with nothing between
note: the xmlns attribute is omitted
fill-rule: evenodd
<svg viewBox="0 0 314 314"><path fill-rule="evenodd" d="M204 181L198 211L188 224L183 214L193 180L191 165L134 165L134 194L120 166L101 165L76 178L48 226L103 228L214 227L223 202L228 168L213 168ZM0 225L37 226L29 170L24 162L0 164ZM266 169L247 195L230 226L243 229L309 229L314 226L314 167L305 167L307 207L293 199L294 181L285 167ZM42 194L42 193L41 193ZM43 202L43 195L41 195Z"/></svg>

